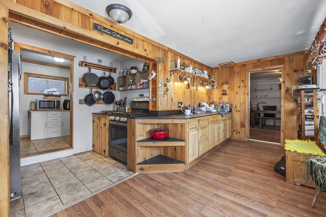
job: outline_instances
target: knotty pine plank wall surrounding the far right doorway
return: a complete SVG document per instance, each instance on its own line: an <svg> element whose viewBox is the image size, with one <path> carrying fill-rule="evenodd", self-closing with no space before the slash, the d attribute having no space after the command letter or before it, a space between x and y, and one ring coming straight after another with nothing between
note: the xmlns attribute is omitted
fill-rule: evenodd
<svg viewBox="0 0 326 217"><path fill-rule="evenodd" d="M218 77L218 91L213 92L212 98L231 103L232 138L248 140L249 73L273 68L282 69L281 144L284 144L284 139L297 138L297 102L296 98L292 98L291 86L300 84L296 81L298 77L309 75L305 70L306 54L303 51L213 69L215 77ZM226 88L228 95L222 96L222 90Z"/></svg>

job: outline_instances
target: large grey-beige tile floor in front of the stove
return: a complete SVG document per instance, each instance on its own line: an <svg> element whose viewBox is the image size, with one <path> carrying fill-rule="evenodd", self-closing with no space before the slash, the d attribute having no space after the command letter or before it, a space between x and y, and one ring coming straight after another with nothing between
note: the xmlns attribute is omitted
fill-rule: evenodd
<svg viewBox="0 0 326 217"><path fill-rule="evenodd" d="M23 166L22 197L10 201L10 216L48 216L133 175L124 163L94 151Z"/></svg>

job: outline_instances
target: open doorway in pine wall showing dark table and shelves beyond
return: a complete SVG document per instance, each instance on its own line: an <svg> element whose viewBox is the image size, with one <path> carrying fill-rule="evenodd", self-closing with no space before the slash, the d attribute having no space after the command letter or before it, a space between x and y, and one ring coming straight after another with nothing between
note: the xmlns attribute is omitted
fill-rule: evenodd
<svg viewBox="0 0 326 217"><path fill-rule="evenodd" d="M281 68L249 73L249 139L281 140Z"/></svg>

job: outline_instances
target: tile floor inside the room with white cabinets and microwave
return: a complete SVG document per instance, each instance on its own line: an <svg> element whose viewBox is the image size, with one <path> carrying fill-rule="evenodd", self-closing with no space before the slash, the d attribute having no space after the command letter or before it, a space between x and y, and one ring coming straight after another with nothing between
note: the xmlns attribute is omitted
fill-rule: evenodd
<svg viewBox="0 0 326 217"><path fill-rule="evenodd" d="M70 146L70 136L62 136L31 141L30 138L20 138L20 154L33 154L40 151L50 151Z"/></svg>

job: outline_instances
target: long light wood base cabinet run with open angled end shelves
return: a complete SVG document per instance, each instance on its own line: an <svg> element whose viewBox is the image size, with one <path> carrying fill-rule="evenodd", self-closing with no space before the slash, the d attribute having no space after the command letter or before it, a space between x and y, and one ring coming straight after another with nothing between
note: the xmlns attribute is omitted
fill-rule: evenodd
<svg viewBox="0 0 326 217"><path fill-rule="evenodd" d="M224 116L227 119L228 115ZM158 127L169 130L168 139L148 138L148 131ZM140 173L184 171L204 158L209 149L222 144L222 130L220 114L192 118L130 118L127 168ZM229 137L231 131L227 128L226 132Z"/></svg>

